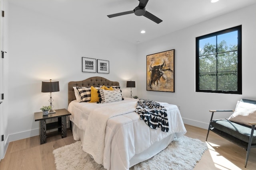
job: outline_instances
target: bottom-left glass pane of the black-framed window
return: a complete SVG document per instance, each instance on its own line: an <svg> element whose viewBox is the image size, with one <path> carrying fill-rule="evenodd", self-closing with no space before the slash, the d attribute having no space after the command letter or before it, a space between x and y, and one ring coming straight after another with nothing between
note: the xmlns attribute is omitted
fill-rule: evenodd
<svg viewBox="0 0 256 170"><path fill-rule="evenodd" d="M200 90L216 90L216 74L202 73L199 74Z"/></svg>

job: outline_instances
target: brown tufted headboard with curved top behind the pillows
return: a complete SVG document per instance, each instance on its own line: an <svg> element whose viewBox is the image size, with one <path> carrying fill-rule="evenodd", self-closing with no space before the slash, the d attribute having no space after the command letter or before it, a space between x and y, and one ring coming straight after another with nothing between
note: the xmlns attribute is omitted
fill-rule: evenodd
<svg viewBox="0 0 256 170"><path fill-rule="evenodd" d="M106 78L103 77L90 77L82 81L78 82L68 82L68 104L76 100L76 96L74 94L74 88L73 87L99 87L99 86L119 86L119 82L112 82Z"/></svg>

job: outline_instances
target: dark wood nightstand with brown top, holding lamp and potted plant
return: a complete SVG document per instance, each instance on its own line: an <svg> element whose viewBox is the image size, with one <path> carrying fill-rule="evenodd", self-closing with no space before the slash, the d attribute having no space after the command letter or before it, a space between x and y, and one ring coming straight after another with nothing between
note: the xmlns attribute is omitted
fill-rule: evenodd
<svg viewBox="0 0 256 170"><path fill-rule="evenodd" d="M61 137L67 137L67 116L71 115L66 109L56 109L56 113L43 115L43 112L34 113L35 121L39 122L40 144L46 143L46 131L50 129L57 129L61 131ZM46 123L46 119L53 119L58 117L58 121L53 123Z"/></svg>

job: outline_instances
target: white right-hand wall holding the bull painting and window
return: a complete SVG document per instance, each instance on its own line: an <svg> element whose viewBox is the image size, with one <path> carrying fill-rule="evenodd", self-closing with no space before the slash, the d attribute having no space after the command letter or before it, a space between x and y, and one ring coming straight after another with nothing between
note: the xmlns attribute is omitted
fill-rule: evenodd
<svg viewBox="0 0 256 170"><path fill-rule="evenodd" d="M241 98L256 100L255 16L256 5L253 5L138 45L138 96L176 104L184 123L202 128L208 128L209 109L234 109ZM196 37L241 24L242 95L195 92ZM146 91L146 55L171 49L175 49L175 92ZM215 118L223 118L220 114ZM229 117L227 113L224 115Z"/></svg>

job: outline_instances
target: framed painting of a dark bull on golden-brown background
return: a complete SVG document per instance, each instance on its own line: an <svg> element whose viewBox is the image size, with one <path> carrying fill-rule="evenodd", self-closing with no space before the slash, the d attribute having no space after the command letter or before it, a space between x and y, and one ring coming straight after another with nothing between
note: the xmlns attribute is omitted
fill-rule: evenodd
<svg viewBox="0 0 256 170"><path fill-rule="evenodd" d="M147 90L174 92L174 51L147 55Z"/></svg>

